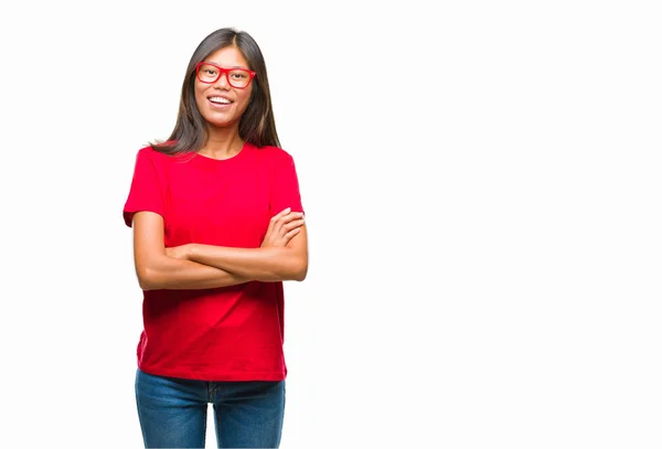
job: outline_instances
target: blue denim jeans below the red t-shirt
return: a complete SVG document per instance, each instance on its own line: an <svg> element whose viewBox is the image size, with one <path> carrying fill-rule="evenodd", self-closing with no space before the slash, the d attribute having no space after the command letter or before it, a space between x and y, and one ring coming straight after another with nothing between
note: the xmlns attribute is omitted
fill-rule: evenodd
<svg viewBox="0 0 662 449"><path fill-rule="evenodd" d="M204 448L210 403L218 448L278 448L285 381L189 381L138 370L136 403L146 448Z"/></svg>

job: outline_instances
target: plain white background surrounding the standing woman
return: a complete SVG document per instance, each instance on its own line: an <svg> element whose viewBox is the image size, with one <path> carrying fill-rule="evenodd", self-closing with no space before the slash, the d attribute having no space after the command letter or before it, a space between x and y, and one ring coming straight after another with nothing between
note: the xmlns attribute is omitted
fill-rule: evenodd
<svg viewBox="0 0 662 449"><path fill-rule="evenodd" d="M655 2L383 3L4 3L8 446L141 446L121 209L236 26L308 215L284 449L661 447Z"/></svg>

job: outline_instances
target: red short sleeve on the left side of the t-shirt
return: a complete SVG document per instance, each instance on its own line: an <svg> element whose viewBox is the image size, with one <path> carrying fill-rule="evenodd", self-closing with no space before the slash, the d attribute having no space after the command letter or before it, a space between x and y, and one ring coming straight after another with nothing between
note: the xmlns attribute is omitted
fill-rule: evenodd
<svg viewBox="0 0 662 449"><path fill-rule="evenodd" d="M134 179L122 211L125 224L129 227L136 212L150 211L163 216L163 177L153 156L154 151L148 147L138 151L136 157Z"/></svg>

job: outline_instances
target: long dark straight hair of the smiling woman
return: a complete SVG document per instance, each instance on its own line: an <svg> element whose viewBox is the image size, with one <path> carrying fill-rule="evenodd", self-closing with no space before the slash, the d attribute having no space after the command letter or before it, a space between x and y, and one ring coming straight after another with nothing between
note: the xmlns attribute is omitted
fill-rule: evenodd
<svg viewBox="0 0 662 449"><path fill-rule="evenodd" d="M182 154L199 151L207 138L207 122L195 103L195 66L212 53L226 46L235 46L255 72L253 92L248 106L239 119L239 137L257 147L280 147L276 121L271 108L271 94L267 78L267 66L257 42L245 31L222 28L207 35L191 56L182 85L177 124L166 142L150 146L166 154Z"/></svg>

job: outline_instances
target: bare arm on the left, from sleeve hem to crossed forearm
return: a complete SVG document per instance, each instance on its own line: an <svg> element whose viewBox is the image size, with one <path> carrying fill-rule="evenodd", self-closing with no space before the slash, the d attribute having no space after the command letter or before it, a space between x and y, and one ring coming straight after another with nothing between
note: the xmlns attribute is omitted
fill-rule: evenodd
<svg viewBox="0 0 662 449"><path fill-rule="evenodd" d="M166 255L163 217L154 212L134 214L134 260L142 290L195 290L236 286L252 279Z"/></svg>

